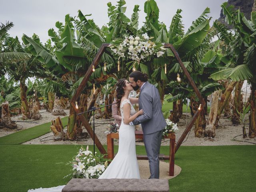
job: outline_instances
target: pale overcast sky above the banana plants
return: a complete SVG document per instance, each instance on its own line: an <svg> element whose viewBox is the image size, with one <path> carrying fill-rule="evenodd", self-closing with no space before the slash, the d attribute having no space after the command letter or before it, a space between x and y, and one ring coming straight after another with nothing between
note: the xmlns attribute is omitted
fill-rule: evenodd
<svg viewBox="0 0 256 192"><path fill-rule="evenodd" d="M227 0L156 0L160 10L159 20L170 26L172 17L177 9L182 9L182 20L185 32L198 18L206 7L210 8L212 21L220 16L220 5ZM49 38L48 30L55 27L56 21L64 23L65 15L77 16L78 10L83 14L92 14L87 17L101 27L108 23L107 2L116 5L116 0L0 0L0 22L10 21L14 27L9 30L13 37L18 36L21 41L22 34L40 37L41 42ZM132 15L135 4L140 5L140 24L142 26L146 14L144 13L145 0L126 0L126 16ZM212 25L212 22L211 22Z"/></svg>

